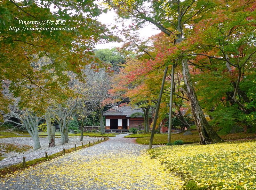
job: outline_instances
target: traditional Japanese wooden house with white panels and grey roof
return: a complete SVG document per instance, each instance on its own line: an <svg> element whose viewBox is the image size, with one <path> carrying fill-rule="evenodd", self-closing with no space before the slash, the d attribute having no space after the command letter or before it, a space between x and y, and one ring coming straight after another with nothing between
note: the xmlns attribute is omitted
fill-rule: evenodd
<svg viewBox="0 0 256 190"><path fill-rule="evenodd" d="M138 114L141 113L141 114ZM103 113L106 117L106 132L119 131L125 132L129 128L138 128L144 130L144 118L142 116L143 111L139 107L132 107L129 105L113 106L109 110ZM149 126L152 121L149 119Z"/></svg>

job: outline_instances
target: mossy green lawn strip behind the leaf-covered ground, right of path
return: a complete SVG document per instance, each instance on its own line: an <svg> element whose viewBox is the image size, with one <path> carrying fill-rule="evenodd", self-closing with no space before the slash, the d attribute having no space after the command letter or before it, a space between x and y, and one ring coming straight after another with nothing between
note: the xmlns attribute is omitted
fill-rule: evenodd
<svg viewBox="0 0 256 190"><path fill-rule="evenodd" d="M183 135L182 133L179 134L172 134L171 142L173 143L176 140L182 140L184 143L197 143L199 142L199 136L196 129L192 129L191 132L193 135ZM150 134L135 134L135 135L127 135L126 138L137 137L136 142L139 144L148 144L150 139ZM223 140L239 140L239 139L248 139L248 138L256 138L256 134L253 133L233 133L228 135L220 135ZM168 139L168 134L155 134L153 144L166 144Z"/></svg>

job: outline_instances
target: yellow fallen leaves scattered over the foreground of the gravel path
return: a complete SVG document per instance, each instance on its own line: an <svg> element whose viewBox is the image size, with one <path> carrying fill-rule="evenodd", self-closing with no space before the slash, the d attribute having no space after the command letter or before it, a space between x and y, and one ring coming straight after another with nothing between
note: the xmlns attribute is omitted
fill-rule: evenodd
<svg viewBox="0 0 256 190"><path fill-rule="evenodd" d="M67 157L65 161L64 159ZM76 153L60 157L28 168L9 177L21 178L44 188L58 184L60 189L181 189L183 182L168 171L156 159L150 159L144 151L140 156L126 152L83 156ZM41 171L41 172L38 172ZM26 176L26 177L25 177Z"/></svg>

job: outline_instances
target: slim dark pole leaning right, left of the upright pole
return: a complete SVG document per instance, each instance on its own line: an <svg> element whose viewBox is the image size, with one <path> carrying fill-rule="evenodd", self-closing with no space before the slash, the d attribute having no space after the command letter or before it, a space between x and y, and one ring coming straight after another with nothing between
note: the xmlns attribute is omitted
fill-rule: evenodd
<svg viewBox="0 0 256 190"><path fill-rule="evenodd" d="M159 112L159 108L160 108L160 104L161 104L161 99L162 99L162 95L163 95L164 82L165 82L167 70L168 70L168 66L166 66L165 70L164 70L164 76L163 76L161 90L160 90L160 93L159 93L158 102L157 102L157 106L156 106L156 114L155 114L154 121L153 121L153 126L152 126L152 131L151 131L149 144L148 144L148 149L152 149L152 144L153 144L153 139L154 139L154 134L155 134L155 128L156 128L156 120L157 120L157 116L158 116L158 112Z"/></svg>

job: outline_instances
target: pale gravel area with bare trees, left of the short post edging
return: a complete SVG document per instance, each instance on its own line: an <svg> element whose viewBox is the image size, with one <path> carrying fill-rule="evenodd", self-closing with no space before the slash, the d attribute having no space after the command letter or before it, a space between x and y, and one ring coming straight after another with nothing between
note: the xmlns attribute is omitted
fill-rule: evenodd
<svg viewBox="0 0 256 190"><path fill-rule="evenodd" d="M96 142L101 138L97 137L83 137L83 144L88 144L89 142ZM4 158L0 161L0 169L8 167L13 164L19 164L22 162L22 157L26 157L26 161L33 160L36 158L45 157L45 152L48 155L52 155L54 153L60 152L65 149L74 148L76 146L81 146L82 141L80 141L80 137L69 137L68 143L61 145L61 138L55 138L55 147L49 147L48 138L40 137L39 138L41 149L38 150L28 150L25 153L13 153L9 157ZM32 137L11 137L11 138L2 138L0 139L0 143L18 143L18 144L27 144L30 146L34 146L34 142Z"/></svg>

